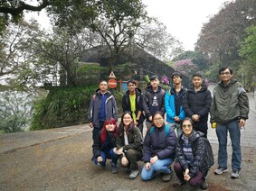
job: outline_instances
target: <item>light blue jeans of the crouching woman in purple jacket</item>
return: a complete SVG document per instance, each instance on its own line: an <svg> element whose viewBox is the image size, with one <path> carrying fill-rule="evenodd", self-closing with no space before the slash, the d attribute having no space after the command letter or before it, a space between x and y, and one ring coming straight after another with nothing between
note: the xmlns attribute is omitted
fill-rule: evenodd
<svg viewBox="0 0 256 191"><path fill-rule="evenodd" d="M156 172L162 172L164 174L168 174L171 172L169 166L173 163L173 159L157 159L154 165L150 164L150 169L147 170L145 166L141 171L141 179L142 180L150 180L156 176Z"/></svg>

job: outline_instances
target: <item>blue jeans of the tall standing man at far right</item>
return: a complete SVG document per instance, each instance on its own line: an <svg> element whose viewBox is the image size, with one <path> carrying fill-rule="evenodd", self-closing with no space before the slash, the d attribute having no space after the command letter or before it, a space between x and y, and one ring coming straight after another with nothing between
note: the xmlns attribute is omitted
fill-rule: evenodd
<svg viewBox="0 0 256 191"><path fill-rule="evenodd" d="M237 120L231 123L217 124L216 134L219 141L218 164L219 168L227 168L227 136L230 133L232 141L232 170L240 170L242 163L242 153L240 145L241 132Z"/></svg>

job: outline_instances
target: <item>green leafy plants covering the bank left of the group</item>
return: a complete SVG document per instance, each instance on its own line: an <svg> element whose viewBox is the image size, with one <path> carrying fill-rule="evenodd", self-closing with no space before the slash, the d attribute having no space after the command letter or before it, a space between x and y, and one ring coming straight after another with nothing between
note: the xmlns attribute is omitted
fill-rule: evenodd
<svg viewBox="0 0 256 191"><path fill-rule="evenodd" d="M35 102L31 130L86 123L90 98L97 88L52 88L46 98Z"/></svg>

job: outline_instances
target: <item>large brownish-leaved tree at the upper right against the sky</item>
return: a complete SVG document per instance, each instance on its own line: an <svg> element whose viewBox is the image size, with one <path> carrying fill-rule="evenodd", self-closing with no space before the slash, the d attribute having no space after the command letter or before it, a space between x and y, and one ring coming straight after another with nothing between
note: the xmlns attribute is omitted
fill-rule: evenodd
<svg viewBox="0 0 256 191"><path fill-rule="evenodd" d="M235 68L241 63L238 55L240 42L245 36L245 29L256 23L256 7L253 0L237 0L225 4L215 14L200 33L195 50L201 50L212 62L218 60L224 65Z"/></svg>

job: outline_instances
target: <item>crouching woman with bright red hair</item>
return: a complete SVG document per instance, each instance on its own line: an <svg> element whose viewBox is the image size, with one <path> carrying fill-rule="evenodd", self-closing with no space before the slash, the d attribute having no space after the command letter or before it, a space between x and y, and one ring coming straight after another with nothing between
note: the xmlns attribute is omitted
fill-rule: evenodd
<svg viewBox="0 0 256 191"><path fill-rule="evenodd" d="M99 164L102 169L106 168L106 160L111 159L112 173L117 173L117 155L113 149L116 147L116 138L118 135L118 125L114 118L105 120L102 130L99 132L97 139L93 142L93 160Z"/></svg>

